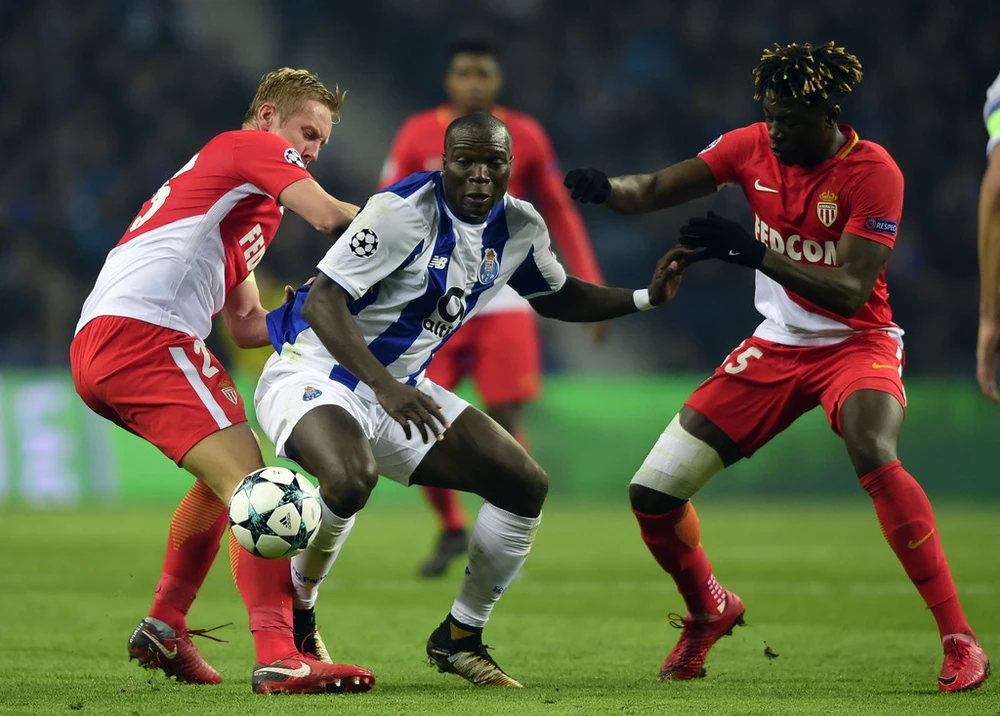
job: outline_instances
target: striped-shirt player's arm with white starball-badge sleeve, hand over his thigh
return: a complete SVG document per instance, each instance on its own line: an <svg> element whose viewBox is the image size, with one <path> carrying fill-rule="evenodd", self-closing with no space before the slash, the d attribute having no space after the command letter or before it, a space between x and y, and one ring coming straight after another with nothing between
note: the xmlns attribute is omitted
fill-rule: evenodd
<svg viewBox="0 0 1000 716"><path fill-rule="evenodd" d="M428 429L440 439L449 427L440 406L392 377L368 348L350 310L353 301L403 263L427 236L428 227L423 217L394 194L376 194L347 230L352 238L361 233L369 237L366 250L359 250L351 238L338 241L316 266L320 273L302 306L302 317L330 355L374 391L386 413L403 427L407 439L411 422L424 442L429 438Z"/></svg>

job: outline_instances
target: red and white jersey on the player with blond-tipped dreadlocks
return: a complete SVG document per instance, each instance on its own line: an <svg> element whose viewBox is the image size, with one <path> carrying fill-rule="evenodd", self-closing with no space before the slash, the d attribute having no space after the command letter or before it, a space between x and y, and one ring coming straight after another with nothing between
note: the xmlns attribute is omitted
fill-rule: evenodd
<svg viewBox="0 0 1000 716"><path fill-rule="evenodd" d="M787 166L770 148L763 122L723 134L699 156L719 187L739 185L754 215L758 241L799 263L837 265L844 233L892 247L903 211L903 174L878 144L847 125L847 143L812 167ZM885 269L852 318L827 311L757 272L755 305L764 322L754 335L788 345L836 343L858 331L902 336L892 322Z"/></svg>

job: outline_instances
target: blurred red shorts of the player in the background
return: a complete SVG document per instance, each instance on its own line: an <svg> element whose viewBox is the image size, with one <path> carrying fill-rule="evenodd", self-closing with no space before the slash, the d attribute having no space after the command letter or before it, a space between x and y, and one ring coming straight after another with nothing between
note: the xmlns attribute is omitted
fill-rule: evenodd
<svg viewBox="0 0 1000 716"><path fill-rule="evenodd" d="M471 374L487 407L523 403L541 392L538 326L527 311L476 316L434 354L427 377L446 390Z"/></svg>

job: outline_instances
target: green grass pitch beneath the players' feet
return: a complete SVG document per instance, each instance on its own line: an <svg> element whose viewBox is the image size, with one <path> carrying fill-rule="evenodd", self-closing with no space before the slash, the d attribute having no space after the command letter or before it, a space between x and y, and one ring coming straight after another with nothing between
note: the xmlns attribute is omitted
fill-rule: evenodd
<svg viewBox="0 0 1000 716"><path fill-rule="evenodd" d="M250 693L252 642L225 552L195 603L195 627L233 621L226 644L200 642L222 674L182 686L125 658L159 573L169 510L0 511L0 711L92 714L996 714L995 684L937 693L930 614L871 512L851 506L703 501L704 543L748 626L712 651L708 678L657 683L679 597L647 554L624 504L553 503L525 573L486 631L526 688L477 689L425 664L430 631L461 567L413 577L434 539L411 509L370 506L328 583L319 620L339 660L371 668L360 696ZM980 641L1000 655L998 509L939 507L945 548ZM765 642L780 656L764 656Z"/></svg>

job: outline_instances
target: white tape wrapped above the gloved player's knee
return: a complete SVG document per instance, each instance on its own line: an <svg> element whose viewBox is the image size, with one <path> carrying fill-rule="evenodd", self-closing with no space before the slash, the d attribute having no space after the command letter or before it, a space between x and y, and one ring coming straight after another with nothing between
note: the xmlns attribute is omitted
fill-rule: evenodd
<svg viewBox="0 0 1000 716"><path fill-rule="evenodd" d="M722 467L719 453L682 428L680 416L675 415L631 484L690 500Z"/></svg>

